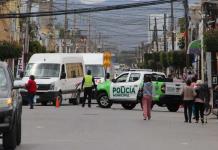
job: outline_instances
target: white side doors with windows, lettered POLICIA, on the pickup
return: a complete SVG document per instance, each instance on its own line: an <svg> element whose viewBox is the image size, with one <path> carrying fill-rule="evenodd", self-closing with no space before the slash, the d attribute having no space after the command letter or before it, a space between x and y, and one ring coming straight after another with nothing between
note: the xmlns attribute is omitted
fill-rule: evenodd
<svg viewBox="0 0 218 150"><path fill-rule="evenodd" d="M135 101L139 90L139 73L125 73L112 83L110 89L111 99Z"/></svg>

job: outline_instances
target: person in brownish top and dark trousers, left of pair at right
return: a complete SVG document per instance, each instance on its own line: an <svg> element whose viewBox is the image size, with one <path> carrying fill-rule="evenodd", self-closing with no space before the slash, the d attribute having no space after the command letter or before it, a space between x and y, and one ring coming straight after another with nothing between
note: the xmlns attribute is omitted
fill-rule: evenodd
<svg viewBox="0 0 218 150"><path fill-rule="evenodd" d="M191 123L192 105L194 102L194 97L196 96L194 88L191 87L191 80L186 81L186 85L183 87L182 94L185 122Z"/></svg>

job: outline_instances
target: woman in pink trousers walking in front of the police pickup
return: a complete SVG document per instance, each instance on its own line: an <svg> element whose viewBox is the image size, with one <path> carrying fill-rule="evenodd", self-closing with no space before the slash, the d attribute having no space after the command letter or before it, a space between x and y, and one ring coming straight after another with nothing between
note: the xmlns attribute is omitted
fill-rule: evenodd
<svg viewBox="0 0 218 150"><path fill-rule="evenodd" d="M142 109L144 120L151 119L152 83L151 78L144 76Z"/></svg>

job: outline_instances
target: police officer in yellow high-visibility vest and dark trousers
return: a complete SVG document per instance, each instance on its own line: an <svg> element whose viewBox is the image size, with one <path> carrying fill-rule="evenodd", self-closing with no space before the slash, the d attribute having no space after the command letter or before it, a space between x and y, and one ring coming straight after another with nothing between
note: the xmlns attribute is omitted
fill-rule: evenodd
<svg viewBox="0 0 218 150"><path fill-rule="evenodd" d="M87 71L87 75L84 76L82 81L82 89L84 87L84 100L82 103L82 107L85 107L86 99L88 96L88 107L91 107L91 99L92 99L92 88L96 87L95 80L91 75L91 70Z"/></svg>

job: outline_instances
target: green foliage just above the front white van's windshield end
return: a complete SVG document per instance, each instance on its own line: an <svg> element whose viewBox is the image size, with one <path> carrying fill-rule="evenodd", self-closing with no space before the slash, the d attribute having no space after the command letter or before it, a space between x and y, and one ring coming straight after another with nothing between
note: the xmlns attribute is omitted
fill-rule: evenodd
<svg viewBox="0 0 218 150"><path fill-rule="evenodd" d="M46 48L42 46L39 41L30 41L28 58L35 53L46 53Z"/></svg>

